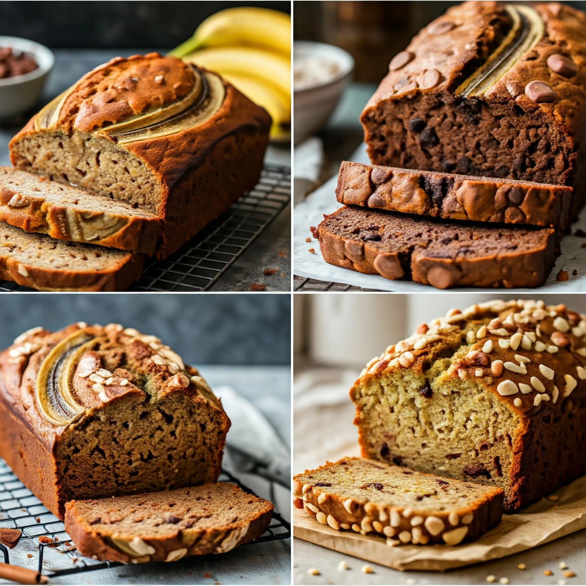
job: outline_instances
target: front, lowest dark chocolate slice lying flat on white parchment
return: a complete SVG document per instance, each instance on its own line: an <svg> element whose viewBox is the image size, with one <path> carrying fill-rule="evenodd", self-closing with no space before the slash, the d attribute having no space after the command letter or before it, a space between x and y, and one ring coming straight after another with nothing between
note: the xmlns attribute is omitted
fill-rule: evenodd
<svg viewBox="0 0 586 586"><path fill-rule="evenodd" d="M557 247L552 228L487 227L347 206L312 233L326 263L439 289L538 287Z"/></svg>

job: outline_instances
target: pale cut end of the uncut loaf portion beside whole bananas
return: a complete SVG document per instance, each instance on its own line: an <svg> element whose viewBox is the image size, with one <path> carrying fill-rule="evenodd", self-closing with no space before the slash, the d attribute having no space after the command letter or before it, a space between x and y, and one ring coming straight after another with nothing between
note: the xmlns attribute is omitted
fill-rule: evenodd
<svg viewBox="0 0 586 586"><path fill-rule="evenodd" d="M158 214L161 188L144 163L114 142L74 131L24 135L11 145L17 168Z"/></svg>

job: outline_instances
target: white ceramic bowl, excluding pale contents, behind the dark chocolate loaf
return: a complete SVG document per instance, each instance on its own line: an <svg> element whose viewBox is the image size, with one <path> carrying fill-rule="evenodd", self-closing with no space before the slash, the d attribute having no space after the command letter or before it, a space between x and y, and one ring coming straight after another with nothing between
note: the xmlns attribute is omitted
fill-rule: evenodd
<svg viewBox="0 0 586 586"><path fill-rule="evenodd" d="M354 71L352 56L340 47L296 40L293 43L294 63L295 59L307 56L323 57L336 63L338 72L326 83L294 91L294 144L299 144L310 137L328 121L338 105L342 92L352 80Z"/></svg>

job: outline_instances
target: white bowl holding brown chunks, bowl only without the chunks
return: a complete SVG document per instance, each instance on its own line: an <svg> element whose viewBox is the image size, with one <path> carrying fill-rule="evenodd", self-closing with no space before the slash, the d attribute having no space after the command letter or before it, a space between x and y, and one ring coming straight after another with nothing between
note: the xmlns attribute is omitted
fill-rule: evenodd
<svg viewBox="0 0 586 586"><path fill-rule="evenodd" d="M0 47L12 47L35 56L38 66L34 71L0 79L0 118L11 118L31 108L38 100L55 57L43 45L18 37L0 36Z"/></svg>

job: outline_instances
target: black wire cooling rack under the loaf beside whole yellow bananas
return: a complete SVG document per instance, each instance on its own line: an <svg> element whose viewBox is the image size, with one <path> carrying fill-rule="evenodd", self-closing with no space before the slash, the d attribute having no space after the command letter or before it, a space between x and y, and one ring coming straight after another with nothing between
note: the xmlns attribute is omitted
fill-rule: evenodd
<svg viewBox="0 0 586 586"><path fill-rule="evenodd" d="M150 260L129 291L206 291L285 209L291 200L291 168L265 165L254 189L207 224L167 260ZM0 291L32 291L0 281Z"/></svg>

